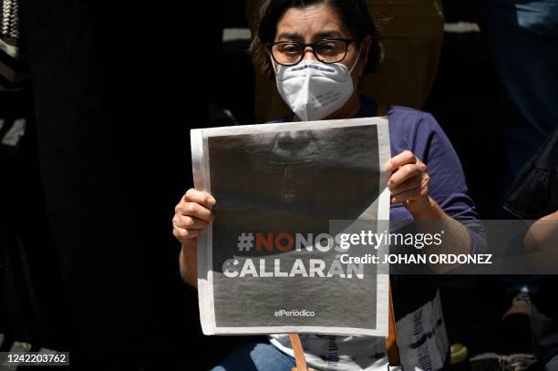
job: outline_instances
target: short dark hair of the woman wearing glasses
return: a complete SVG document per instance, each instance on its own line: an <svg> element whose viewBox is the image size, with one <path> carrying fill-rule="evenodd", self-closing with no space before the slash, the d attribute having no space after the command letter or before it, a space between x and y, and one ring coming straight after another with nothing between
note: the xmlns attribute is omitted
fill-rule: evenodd
<svg viewBox="0 0 558 371"><path fill-rule="evenodd" d="M260 73L274 77L273 66L265 46L274 42L277 23L284 13L290 8L305 8L323 3L333 5L357 45L366 36L372 36L365 72L376 70L383 57L383 48L379 40L376 22L365 0L263 0L259 10L253 16L251 25L253 38L250 45L253 64Z"/></svg>

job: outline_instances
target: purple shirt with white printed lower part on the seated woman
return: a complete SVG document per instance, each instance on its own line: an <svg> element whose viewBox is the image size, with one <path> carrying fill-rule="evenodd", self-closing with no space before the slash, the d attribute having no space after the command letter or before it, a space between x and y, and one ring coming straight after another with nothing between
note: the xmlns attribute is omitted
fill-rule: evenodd
<svg viewBox="0 0 558 371"><path fill-rule="evenodd" d="M363 98L357 118L377 116L374 101ZM417 109L391 106L387 111L391 156L405 149L412 151L428 166L429 195L452 218L466 221L473 252L486 247L484 229L475 205L470 199L460 160L448 137L429 113ZM292 117L278 122L291 121ZM277 121L276 121L277 122ZM391 205L390 228L398 222L412 220L403 204ZM390 276L393 309L398 321L399 352L408 368L445 368L449 357L449 343L441 311L438 285L463 285L472 276L400 275ZM373 368L377 360L387 362L386 349L381 341L369 338L358 341L352 336L303 336L307 359L317 366L335 366L343 358L344 369ZM292 354L286 336L272 335L272 344ZM381 344L380 344L381 343ZM332 358L331 349L335 349ZM310 358L308 358L310 354ZM340 356L341 355L341 356ZM320 361L321 360L321 361ZM381 362L380 362L381 363Z"/></svg>

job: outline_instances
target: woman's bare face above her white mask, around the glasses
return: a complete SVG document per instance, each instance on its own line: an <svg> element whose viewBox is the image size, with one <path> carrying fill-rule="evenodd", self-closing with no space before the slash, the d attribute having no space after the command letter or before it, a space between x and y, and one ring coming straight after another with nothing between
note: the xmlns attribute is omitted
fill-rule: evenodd
<svg viewBox="0 0 558 371"><path fill-rule="evenodd" d="M325 38L353 39L350 31L346 28L336 9L327 3L310 5L304 8L290 8L277 23L277 41L295 41L302 44L312 44ZM366 40L365 44L368 44ZM353 67L358 55L359 45L356 41L349 45L345 59L341 62L347 68ZM363 73L367 61L368 45L363 45L360 60L356 64L352 76L353 80ZM310 47L305 49L303 60L316 60Z"/></svg>

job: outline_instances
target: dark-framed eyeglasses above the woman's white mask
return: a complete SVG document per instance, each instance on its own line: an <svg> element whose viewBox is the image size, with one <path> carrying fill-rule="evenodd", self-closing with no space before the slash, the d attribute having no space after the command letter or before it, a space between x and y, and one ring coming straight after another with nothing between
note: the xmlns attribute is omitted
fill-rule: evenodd
<svg viewBox="0 0 558 371"><path fill-rule="evenodd" d="M280 65L293 66L303 60L307 46L317 60L323 63L341 62L346 57L348 46L352 40L345 38L327 38L313 44L301 44L294 41L279 41L271 45L272 57Z"/></svg>

